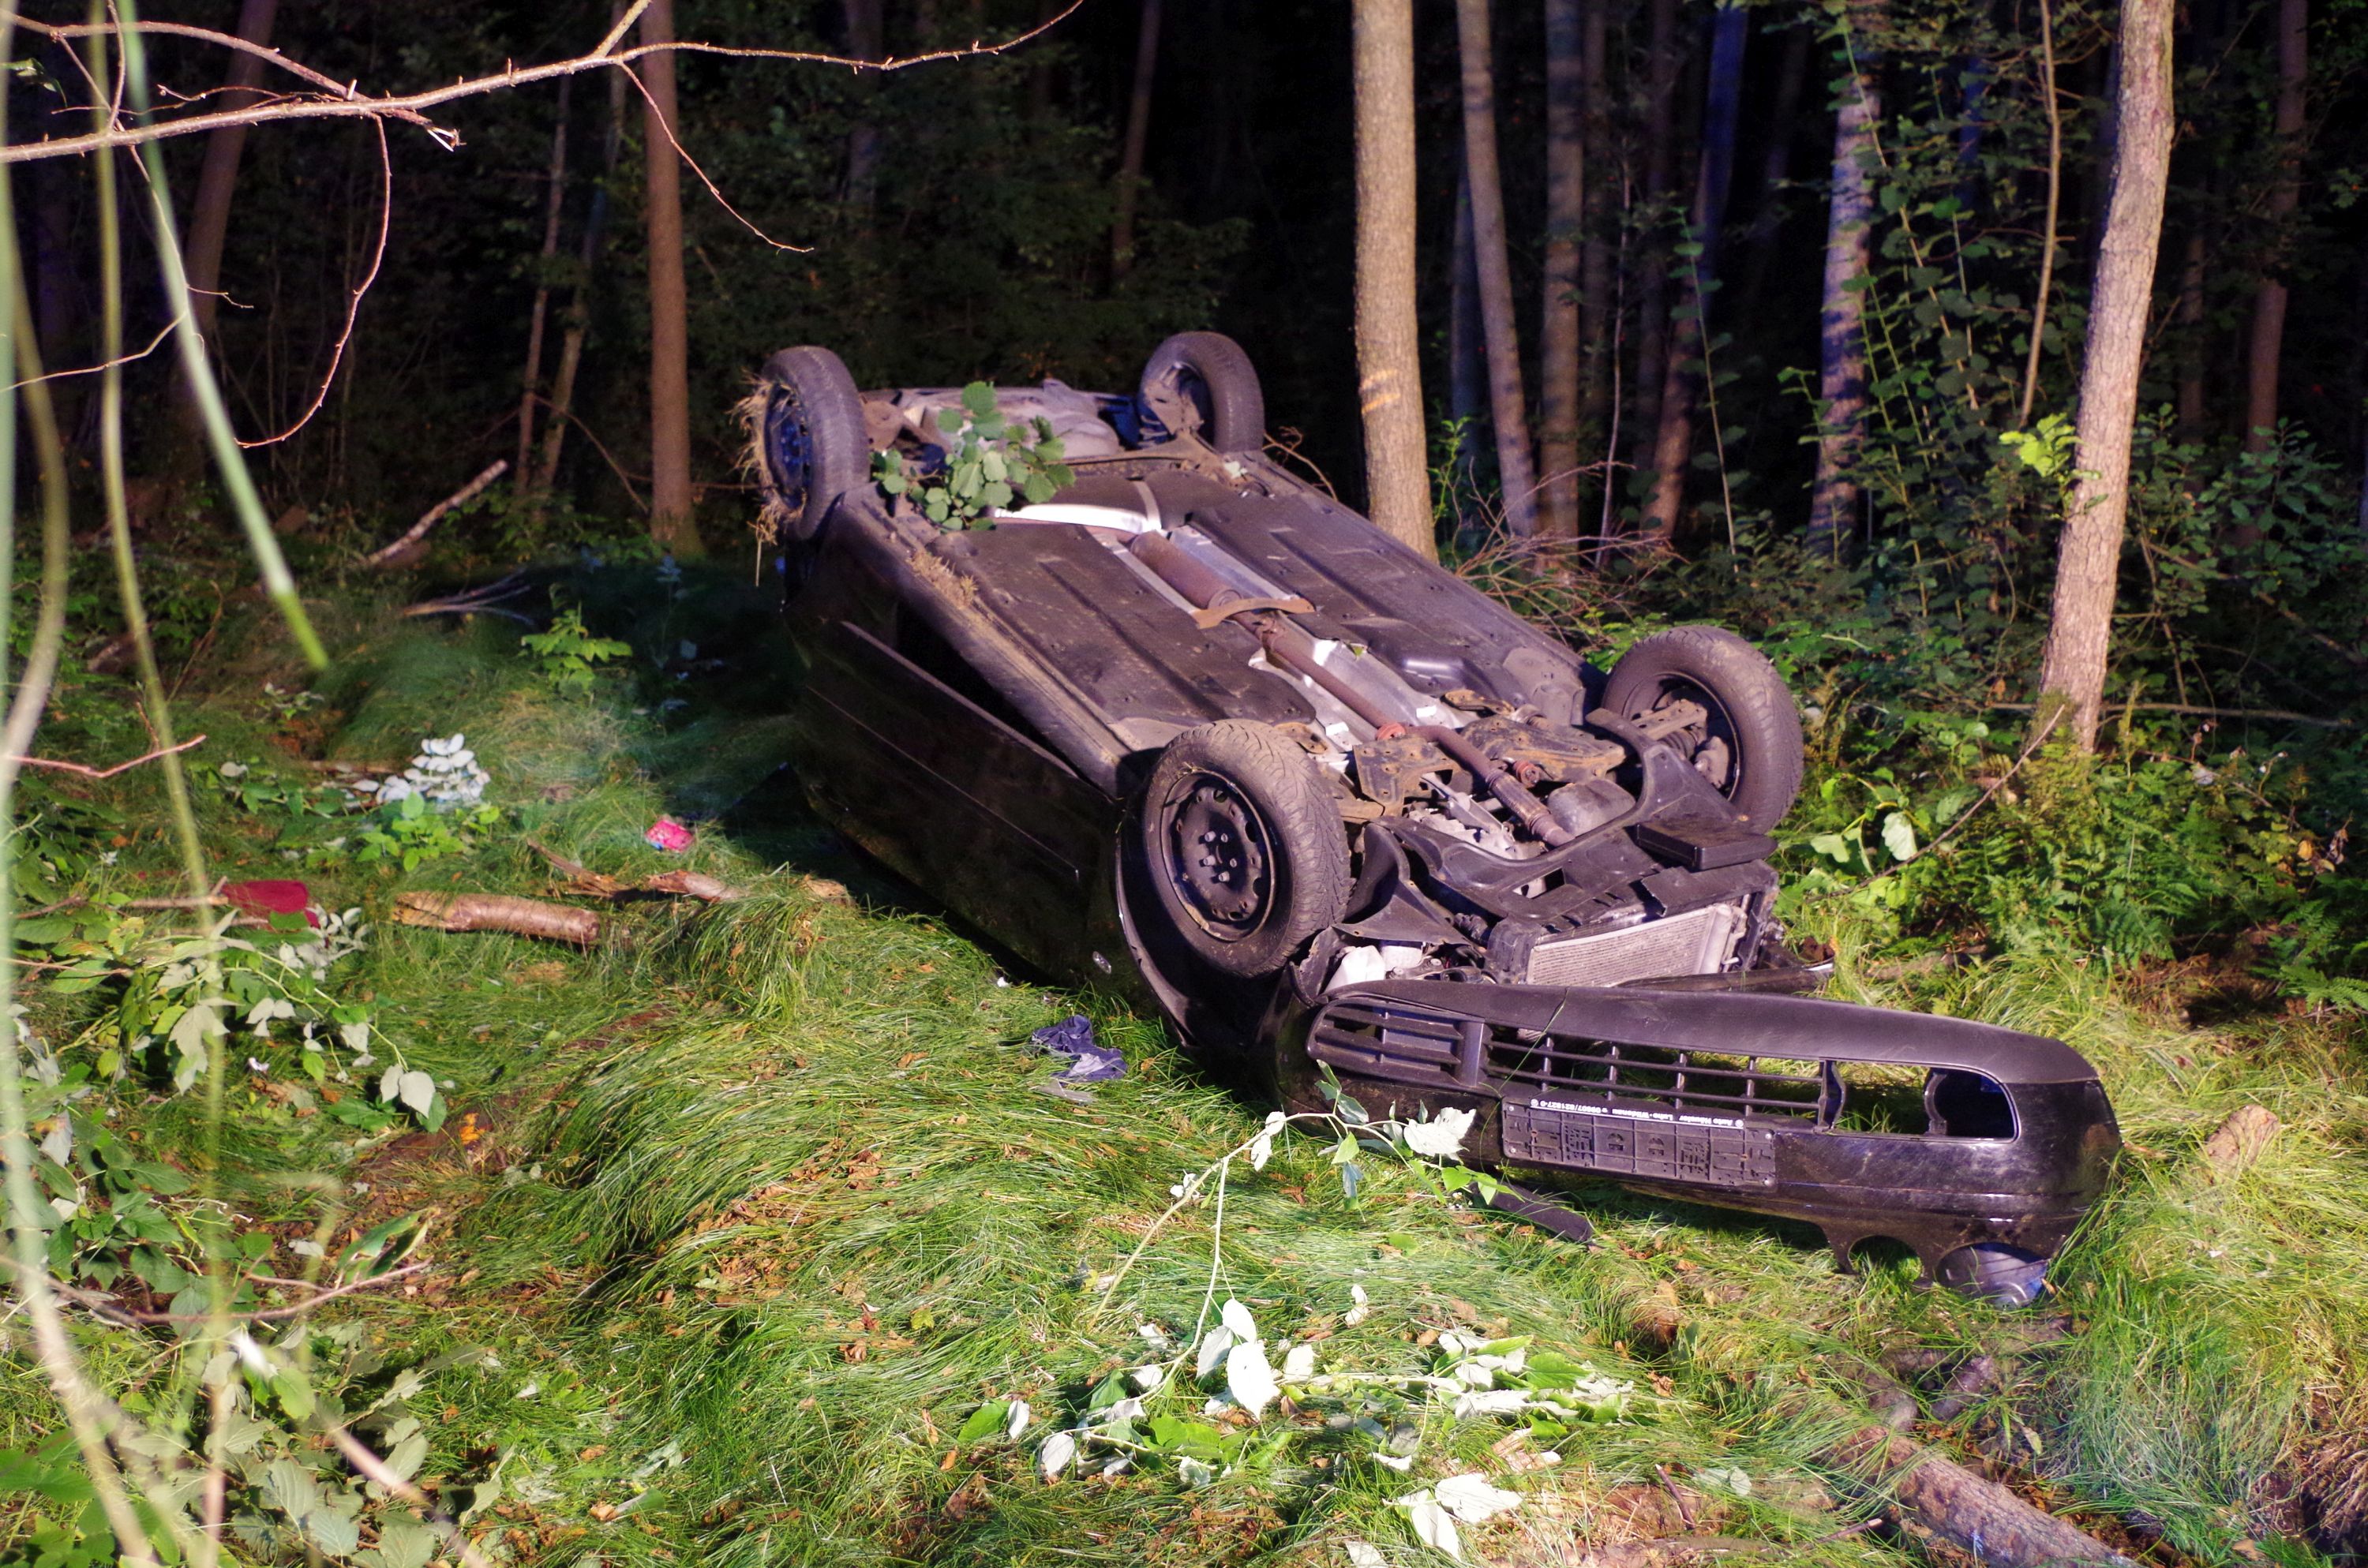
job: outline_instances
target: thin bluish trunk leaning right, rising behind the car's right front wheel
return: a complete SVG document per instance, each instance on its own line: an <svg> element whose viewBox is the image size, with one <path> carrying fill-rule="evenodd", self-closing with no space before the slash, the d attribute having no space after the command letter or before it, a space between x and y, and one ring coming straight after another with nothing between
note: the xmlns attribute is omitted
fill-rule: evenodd
<svg viewBox="0 0 2368 1568"><path fill-rule="evenodd" d="M1639 533L1667 547L1677 538L1677 514L1686 502L1686 469L1693 464L1693 400L1710 365L1710 298L1719 275L1719 242L1726 232L1726 192L1736 168L1736 118L1743 109L1743 47L1752 17L1740 5L1722 5L1710 36L1710 85L1703 97L1703 159L1693 180L1693 244L1677 320L1669 324L1669 362L1660 381L1660 429L1653 438L1653 488L1646 493Z"/></svg>

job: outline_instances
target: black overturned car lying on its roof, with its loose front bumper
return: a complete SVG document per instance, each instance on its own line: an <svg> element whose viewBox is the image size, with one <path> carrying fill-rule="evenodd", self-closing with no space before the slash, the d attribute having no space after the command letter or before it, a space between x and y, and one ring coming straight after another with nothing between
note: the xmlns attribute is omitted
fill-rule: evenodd
<svg viewBox="0 0 2368 1568"><path fill-rule="evenodd" d="M1527 1180L2036 1296L2112 1108L2055 1040L1783 995L1819 976L1771 919L1802 739L1767 658L1686 625L1594 668L1269 462L1224 336L995 398L1073 478L969 531L874 481L954 460L961 393L791 348L748 403L831 824L1286 1104L1471 1108Z"/></svg>

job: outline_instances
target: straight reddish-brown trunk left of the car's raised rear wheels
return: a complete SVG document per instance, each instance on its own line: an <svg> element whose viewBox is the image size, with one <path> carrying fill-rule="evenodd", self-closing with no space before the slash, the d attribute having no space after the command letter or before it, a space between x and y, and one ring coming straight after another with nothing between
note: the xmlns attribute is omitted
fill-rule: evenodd
<svg viewBox="0 0 2368 1568"><path fill-rule="evenodd" d="M649 0L642 43L675 40L675 0ZM642 57L649 192L649 538L699 554L691 516L691 306L682 279L682 159L675 152L675 54Z"/></svg>

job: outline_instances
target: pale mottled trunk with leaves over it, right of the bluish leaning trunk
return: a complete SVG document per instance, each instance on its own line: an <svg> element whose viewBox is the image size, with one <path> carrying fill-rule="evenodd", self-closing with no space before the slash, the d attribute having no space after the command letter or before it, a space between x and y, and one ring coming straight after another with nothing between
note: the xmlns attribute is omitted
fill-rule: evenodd
<svg viewBox="0 0 2368 1568"><path fill-rule="evenodd" d="M2150 0L2131 0L2150 2ZM1868 227L1875 216L1875 97L1873 59L1842 85L1833 116L1833 197L1826 204L1826 296L1819 310L1819 443L1809 493L1809 545L1842 554L1859 516L1852 464L1866 433L1866 270Z"/></svg>

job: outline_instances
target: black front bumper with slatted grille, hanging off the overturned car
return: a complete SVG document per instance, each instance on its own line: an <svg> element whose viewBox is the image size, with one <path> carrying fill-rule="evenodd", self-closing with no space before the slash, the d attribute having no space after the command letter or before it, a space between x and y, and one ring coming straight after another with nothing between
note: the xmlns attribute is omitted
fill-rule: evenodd
<svg viewBox="0 0 2368 1568"><path fill-rule="evenodd" d="M1807 1220L1842 1262L1890 1236L1928 1274L2053 1255L2119 1151L2058 1040L1807 997L1397 981L1328 995L1305 1054L1378 1104L1475 1111L1482 1161ZM1897 1125L1866 1125L1878 1099Z"/></svg>

